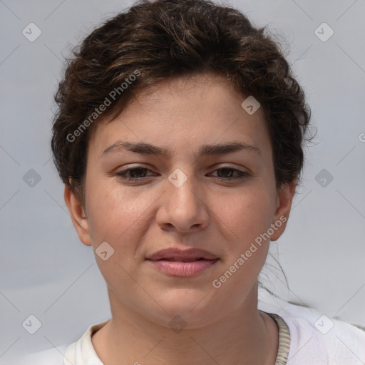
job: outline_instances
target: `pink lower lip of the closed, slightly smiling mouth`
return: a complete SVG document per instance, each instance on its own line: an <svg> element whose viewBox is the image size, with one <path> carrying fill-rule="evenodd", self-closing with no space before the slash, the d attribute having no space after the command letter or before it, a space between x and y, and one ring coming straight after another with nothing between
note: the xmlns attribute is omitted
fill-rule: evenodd
<svg viewBox="0 0 365 365"><path fill-rule="evenodd" d="M167 261L164 259L149 261L164 274L173 277L192 277L205 272L205 270L212 267L218 259L202 259L192 262Z"/></svg>

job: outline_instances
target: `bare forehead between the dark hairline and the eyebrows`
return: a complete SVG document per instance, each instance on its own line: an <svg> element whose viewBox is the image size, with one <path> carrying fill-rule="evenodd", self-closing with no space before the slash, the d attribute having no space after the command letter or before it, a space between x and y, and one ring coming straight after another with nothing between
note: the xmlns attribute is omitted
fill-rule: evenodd
<svg viewBox="0 0 365 365"><path fill-rule="evenodd" d="M117 140L165 145L171 149L242 140L267 147L264 113L248 114L242 96L222 76L199 74L171 78L143 89L115 119L96 125L89 143L103 150ZM194 147L193 147L194 146Z"/></svg>

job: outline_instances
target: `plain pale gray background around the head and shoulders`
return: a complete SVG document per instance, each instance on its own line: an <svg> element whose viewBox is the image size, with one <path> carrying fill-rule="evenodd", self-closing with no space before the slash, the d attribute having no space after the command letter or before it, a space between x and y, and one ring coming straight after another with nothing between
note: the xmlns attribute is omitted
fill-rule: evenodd
<svg viewBox="0 0 365 365"><path fill-rule="evenodd" d="M91 247L78 241L51 161L51 119L63 56L130 4L0 0L0 364L70 344L110 317L106 284ZM364 326L364 1L230 4L255 26L269 24L287 49L318 130L287 230L271 244L289 289L272 258L264 284L285 299ZM22 34L31 22L42 32L34 42ZM334 30L327 41L314 33L323 22ZM41 180L29 180L31 169ZM334 178L325 186L322 169ZM42 324L33 335L22 327L30 314Z"/></svg>

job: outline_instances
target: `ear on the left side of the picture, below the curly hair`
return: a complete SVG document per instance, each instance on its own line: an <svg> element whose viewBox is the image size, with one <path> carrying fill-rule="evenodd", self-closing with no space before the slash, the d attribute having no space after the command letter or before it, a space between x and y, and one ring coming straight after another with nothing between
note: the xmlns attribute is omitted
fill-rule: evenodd
<svg viewBox="0 0 365 365"><path fill-rule="evenodd" d="M91 236L88 227L88 217L86 217L83 205L81 204L75 193L71 191L71 187L65 185L64 198L70 212L73 227L78 234L78 238L86 246L92 246Z"/></svg>

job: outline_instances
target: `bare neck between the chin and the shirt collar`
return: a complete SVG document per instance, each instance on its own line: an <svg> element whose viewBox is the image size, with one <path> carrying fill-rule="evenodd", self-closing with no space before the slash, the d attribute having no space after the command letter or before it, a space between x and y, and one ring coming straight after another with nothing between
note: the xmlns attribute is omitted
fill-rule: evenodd
<svg viewBox="0 0 365 365"><path fill-rule="evenodd" d="M106 365L274 365L277 325L257 309L257 287L252 294L220 321L179 331L121 305L109 291L112 319L93 335L93 346Z"/></svg>

